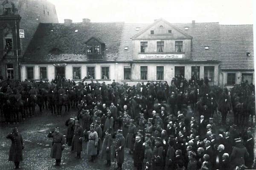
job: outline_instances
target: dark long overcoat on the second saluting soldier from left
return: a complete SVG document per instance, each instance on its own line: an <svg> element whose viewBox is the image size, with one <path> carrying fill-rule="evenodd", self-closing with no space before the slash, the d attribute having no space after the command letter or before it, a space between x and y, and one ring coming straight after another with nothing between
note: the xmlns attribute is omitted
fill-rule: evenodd
<svg viewBox="0 0 256 170"><path fill-rule="evenodd" d="M62 145L65 144L64 135L50 132L48 138L52 139L51 158L60 159L62 156Z"/></svg>

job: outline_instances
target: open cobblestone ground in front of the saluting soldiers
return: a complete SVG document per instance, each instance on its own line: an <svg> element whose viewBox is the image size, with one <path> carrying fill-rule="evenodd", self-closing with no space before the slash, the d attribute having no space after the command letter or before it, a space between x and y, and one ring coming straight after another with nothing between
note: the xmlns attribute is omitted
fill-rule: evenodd
<svg viewBox="0 0 256 170"><path fill-rule="evenodd" d="M8 161L9 149L11 140L6 138L6 135L11 132L12 127L17 127L21 135L25 149L23 150L23 161L20 163L21 170L99 170L99 169L114 169L114 162L111 167L105 167L106 161L97 158L96 163L88 162L86 153L86 143L83 143L83 152L81 159L76 159L76 153L71 153L71 147L64 149L61 160L61 167L54 167L55 159L50 158L50 150L52 138L47 138L49 131L54 130L56 126L60 127L60 132L66 135L67 127L65 121L70 116L75 116L76 110L65 114L62 117L56 117L47 111L42 115L36 115L24 122L16 125L4 125L0 127L0 170L14 169L14 163ZM100 157L100 155L99 155ZM124 170L133 169L133 160L128 155L128 150L125 150Z"/></svg>

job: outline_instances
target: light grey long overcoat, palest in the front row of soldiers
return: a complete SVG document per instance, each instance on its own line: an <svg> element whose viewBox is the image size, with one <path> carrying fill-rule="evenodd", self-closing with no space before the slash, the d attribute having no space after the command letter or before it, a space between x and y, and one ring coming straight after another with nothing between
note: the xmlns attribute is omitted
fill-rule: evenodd
<svg viewBox="0 0 256 170"><path fill-rule="evenodd" d="M97 154L97 145L98 145L98 134L96 131L88 131L87 136L89 141L87 142L87 154L90 156Z"/></svg>

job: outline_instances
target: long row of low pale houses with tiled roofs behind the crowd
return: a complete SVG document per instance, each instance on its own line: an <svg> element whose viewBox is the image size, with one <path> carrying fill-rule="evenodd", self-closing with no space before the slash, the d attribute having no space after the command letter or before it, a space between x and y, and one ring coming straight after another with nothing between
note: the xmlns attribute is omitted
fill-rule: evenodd
<svg viewBox="0 0 256 170"><path fill-rule="evenodd" d="M171 84L172 78L179 75L187 81L208 78L210 85L233 86L227 75L235 72L237 79L252 76L253 82L254 67L249 64L253 61L253 41L241 35L236 43L250 48L237 45L237 51L240 47L244 51L226 52L224 46L233 46L230 39L237 35L231 34L236 26L228 30L225 27L195 21L171 24L163 19L152 24L93 23L89 19L81 23L68 19L64 23L41 23L20 63L21 79L52 80L59 75L74 81L85 78L88 82L93 79L110 84L115 79L134 85L143 81ZM246 35L252 37L252 30ZM244 52L249 52L250 57L243 58ZM233 53L238 61L248 61L243 69L231 68L227 72Z"/></svg>

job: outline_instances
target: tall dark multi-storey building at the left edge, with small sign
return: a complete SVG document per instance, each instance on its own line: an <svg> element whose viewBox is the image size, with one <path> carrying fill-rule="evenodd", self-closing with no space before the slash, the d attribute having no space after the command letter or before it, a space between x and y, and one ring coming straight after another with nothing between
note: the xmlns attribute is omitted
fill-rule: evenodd
<svg viewBox="0 0 256 170"><path fill-rule="evenodd" d="M58 23L55 6L47 0L0 1L0 79L20 79L20 59L44 22Z"/></svg>

